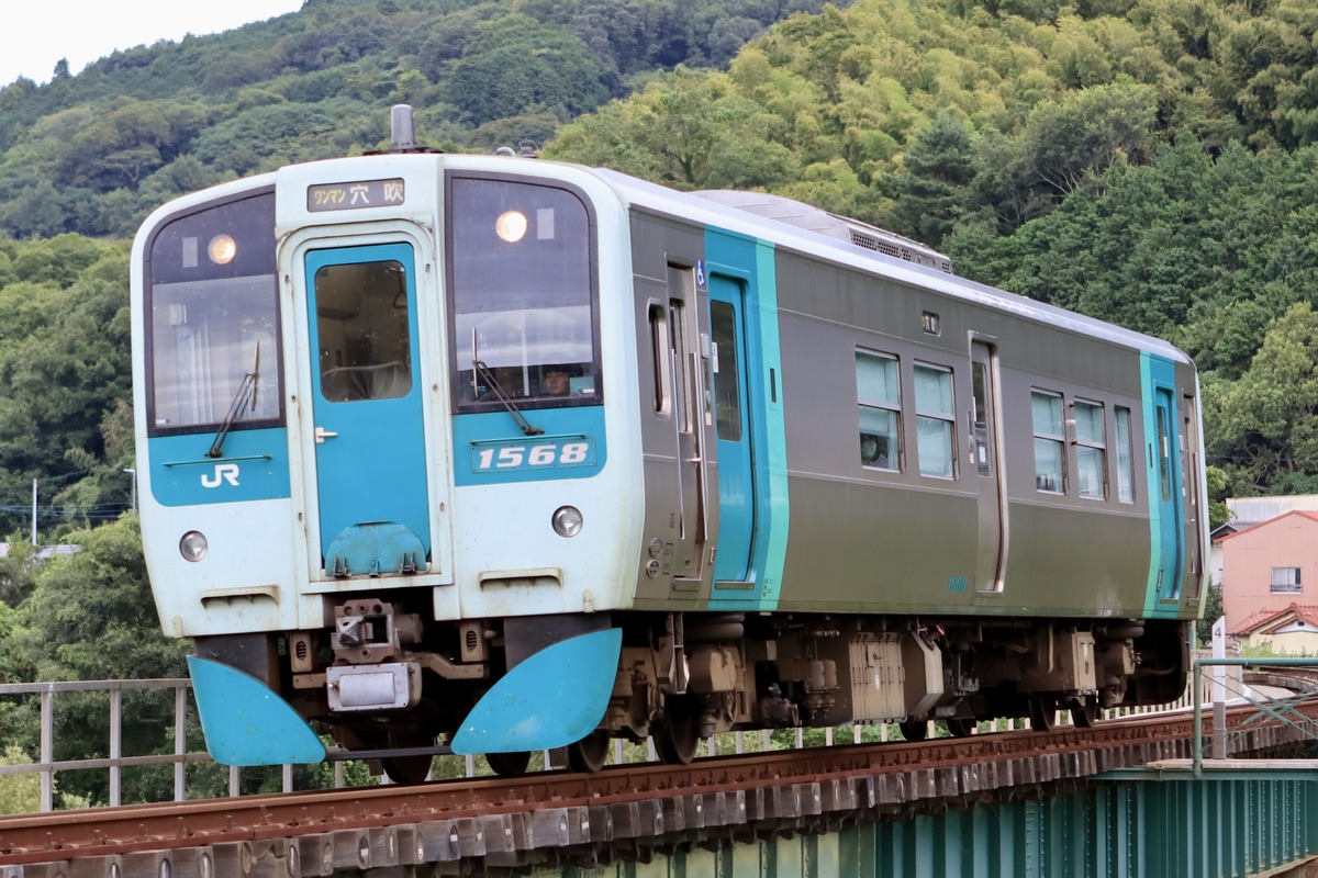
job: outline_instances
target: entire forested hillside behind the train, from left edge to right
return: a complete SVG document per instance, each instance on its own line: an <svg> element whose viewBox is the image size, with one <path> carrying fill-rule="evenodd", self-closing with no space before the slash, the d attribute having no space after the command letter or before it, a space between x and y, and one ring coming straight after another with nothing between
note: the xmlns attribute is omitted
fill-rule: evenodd
<svg viewBox="0 0 1318 878"><path fill-rule="evenodd" d="M128 504L141 219L382 146L397 101L431 146L766 188L1166 337L1231 492L1318 491L1313 0L307 0L0 90L4 533L33 479L51 537Z"/></svg>

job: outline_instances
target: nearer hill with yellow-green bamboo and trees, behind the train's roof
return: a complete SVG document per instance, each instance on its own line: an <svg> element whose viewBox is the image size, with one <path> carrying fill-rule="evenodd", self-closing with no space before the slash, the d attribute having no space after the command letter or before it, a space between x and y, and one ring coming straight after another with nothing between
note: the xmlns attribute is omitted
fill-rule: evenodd
<svg viewBox="0 0 1318 878"><path fill-rule="evenodd" d="M857 0L547 154L763 187L1185 348L1232 494L1318 491L1318 4Z"/></svg>

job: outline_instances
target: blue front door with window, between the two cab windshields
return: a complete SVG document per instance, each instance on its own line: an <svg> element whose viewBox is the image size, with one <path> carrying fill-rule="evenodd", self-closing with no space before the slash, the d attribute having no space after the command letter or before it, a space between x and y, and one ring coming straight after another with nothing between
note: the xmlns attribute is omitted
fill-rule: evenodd
<svg viewBox="0 0 1318 878"><path fill-rule="evenodd" d="M423 570L431 550L414 265L406 244L306 254L326 578Z"/></svg>

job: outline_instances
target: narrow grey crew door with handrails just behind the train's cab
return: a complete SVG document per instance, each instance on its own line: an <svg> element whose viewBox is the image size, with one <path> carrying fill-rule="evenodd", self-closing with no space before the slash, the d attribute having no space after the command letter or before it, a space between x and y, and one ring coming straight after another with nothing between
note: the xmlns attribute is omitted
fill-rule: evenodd
<svg viewBox="0 0 1318 878"><path fill-rule="evenodd" d="M668 266L670 369L673 428L677 434L679 521L673 545L673 587L699 590L709 541L705 482L705 404L696 321L695 270Z"/></svg>

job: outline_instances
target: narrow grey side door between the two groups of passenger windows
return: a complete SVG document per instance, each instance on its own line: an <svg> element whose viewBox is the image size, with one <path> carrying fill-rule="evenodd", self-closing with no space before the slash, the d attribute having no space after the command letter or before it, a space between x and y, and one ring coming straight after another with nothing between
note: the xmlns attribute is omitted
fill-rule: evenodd
<svg viewBox="0 0 1318 878"><path fill-rule="evenodd" d="M971 466L979 486L979 550L975 555L975 590L998 592L1003 587L1007 548L1007 515L1002 502L1003 479L998 459L998 374L994 350L982 341L970 345L970 378L974 409L970 412Z"/></svg>

